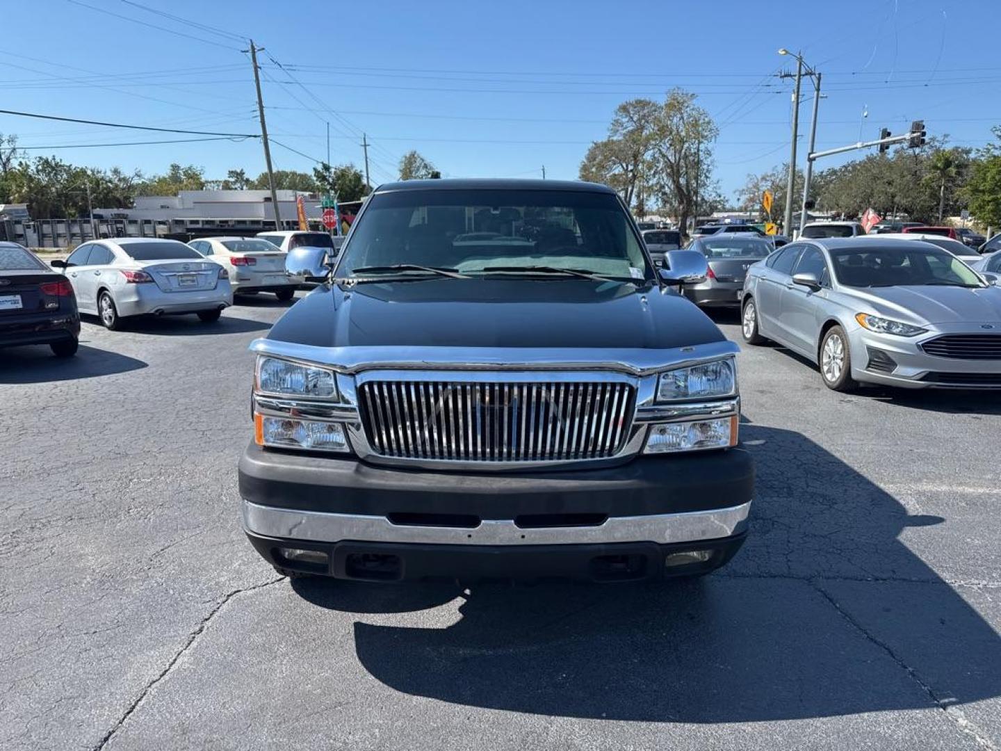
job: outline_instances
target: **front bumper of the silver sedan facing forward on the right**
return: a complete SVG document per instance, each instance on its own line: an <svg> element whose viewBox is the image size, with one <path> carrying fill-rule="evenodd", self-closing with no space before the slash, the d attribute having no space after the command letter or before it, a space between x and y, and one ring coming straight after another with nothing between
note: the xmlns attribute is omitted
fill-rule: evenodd
<svg viewBox="0 0 1001 751"><path fill-rule="evenodd" d="M849 334L852 378L903 389L1001 389L1001 360L961 359L929 354L921 344L943 334L977 333L970 324L941 324L913 338L857 327ZM882 352L892 366L872 366Z"/></svg>

